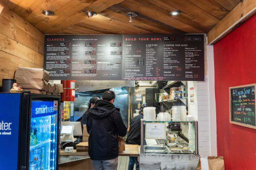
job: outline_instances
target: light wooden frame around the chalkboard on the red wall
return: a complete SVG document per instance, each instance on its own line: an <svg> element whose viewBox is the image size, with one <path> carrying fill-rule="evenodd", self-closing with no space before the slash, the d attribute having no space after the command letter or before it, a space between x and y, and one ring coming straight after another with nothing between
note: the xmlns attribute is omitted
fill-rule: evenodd
<svg viewBox="0 0 256 170"><path fill-rule="evenodd" d="M231 92L231 90L236 89L236 88L241 88L241 87L249 87L249 86L254 86L254 90L256 89L256 83L254 83L254 84L247 84L247 85L241 85L241 86L229 87L230 123L236 124L236 125L241 125L241 126L247 127L247 128L256 129L256 124L255 125L248 125L248 124L244 124L244 123L234 122L232 120L232 108L231 108L232 107L232 104L231 104L231 102L232 102L232 97L231 97L232 92ZM254 93L254 101L255 101L255 93ZM255 107L255 110L256 110L256 105L254 105L254 107ZM255 115L255 122L256 122L256 115Z"/></svg>

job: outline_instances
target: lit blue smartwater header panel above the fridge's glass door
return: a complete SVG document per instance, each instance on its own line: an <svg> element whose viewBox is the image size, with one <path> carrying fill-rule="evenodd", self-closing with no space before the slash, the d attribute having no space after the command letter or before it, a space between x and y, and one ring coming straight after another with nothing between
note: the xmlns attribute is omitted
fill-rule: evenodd
<svg viewBox="0 0 256 170"><path fill-rule="evenodd" d="M31 117L40 117L56 114L58 112L57 101L32 101Z"/></svg>

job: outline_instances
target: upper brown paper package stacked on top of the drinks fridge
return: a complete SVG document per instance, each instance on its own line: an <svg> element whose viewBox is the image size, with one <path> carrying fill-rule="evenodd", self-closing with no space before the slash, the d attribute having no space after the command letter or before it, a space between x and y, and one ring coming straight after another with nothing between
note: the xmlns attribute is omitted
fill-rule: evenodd
<svg viewBox="0 0 256 170"><path fill-rule="evenodd" d="M43 79L49 82L49 72L44 69L19 67L15 71L16 76Z"/></svg>

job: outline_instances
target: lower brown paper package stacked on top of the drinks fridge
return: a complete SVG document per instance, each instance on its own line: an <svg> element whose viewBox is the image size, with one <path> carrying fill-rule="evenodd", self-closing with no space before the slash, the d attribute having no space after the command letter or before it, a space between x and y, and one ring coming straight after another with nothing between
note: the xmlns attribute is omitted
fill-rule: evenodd
<svg viewBox="0 0 256 170"><path fill-rule="evenodd" d="M49 90L49 84L44 79L19 76L15 76L15 79L18 86L22 88L31 88L46 92Z"/></svg>

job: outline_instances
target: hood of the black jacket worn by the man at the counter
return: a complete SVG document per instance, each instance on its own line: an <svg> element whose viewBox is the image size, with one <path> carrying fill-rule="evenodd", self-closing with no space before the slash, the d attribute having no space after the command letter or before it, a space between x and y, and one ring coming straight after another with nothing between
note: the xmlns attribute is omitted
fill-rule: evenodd
<svg viewBox="0 0 256 170"><path fill-rule="evenodd" d="M89 110L93 119L104 119L116 110L115 106L107 100L98 100L95 106Z"/></svg>

